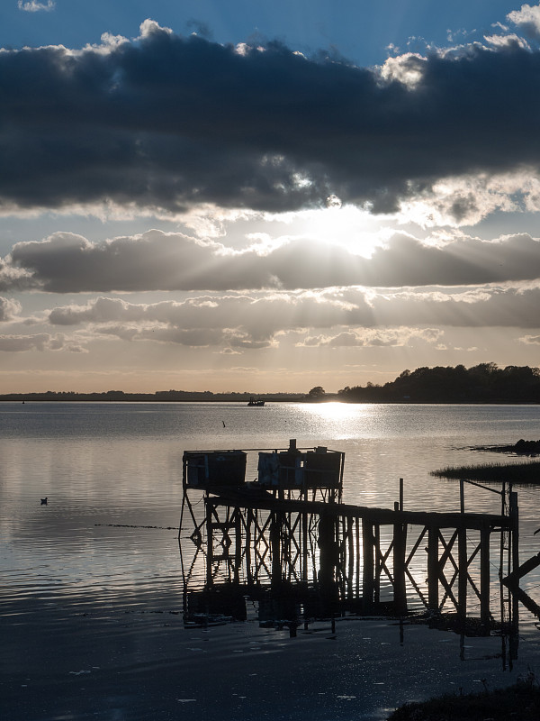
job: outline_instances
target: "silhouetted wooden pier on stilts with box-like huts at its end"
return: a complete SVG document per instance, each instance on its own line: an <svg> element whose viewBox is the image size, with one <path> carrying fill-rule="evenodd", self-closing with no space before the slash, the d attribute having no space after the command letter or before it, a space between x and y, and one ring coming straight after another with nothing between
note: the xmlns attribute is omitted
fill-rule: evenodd
<svg viewBox="0 0 540 721"><path fill-rule="evenodd" d="M304 616L414 607L475 618L487 631L498 598L496 615L511 621L500 580L518 569L516 494L503 489L499 516L465 513L463 485L457 513L406 511L402 486L393 509L352 506L341 502L343 467L343 453L291 441L259 452L257 481L246 483L245 452L185 452L181 531L195 547L186 590L203 559L207 610L225 593L278 592Z"/></svg>

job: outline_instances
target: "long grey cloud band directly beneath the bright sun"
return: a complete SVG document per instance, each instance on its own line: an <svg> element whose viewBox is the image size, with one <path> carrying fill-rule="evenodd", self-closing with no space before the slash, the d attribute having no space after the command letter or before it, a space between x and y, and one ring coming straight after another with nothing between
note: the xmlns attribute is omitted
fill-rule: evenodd
<svg viewBox="0 0 540 721"><path fill-rule="evenodd" d="M14 245L0 267L1 287L20 287L21 278L27 287L55 293L473 286L540 278L540 241L519 234L497 242L464 238L439 248L396 234L365 259L311 240L261 255L157 230L102 243L54 233Z"/></svg>

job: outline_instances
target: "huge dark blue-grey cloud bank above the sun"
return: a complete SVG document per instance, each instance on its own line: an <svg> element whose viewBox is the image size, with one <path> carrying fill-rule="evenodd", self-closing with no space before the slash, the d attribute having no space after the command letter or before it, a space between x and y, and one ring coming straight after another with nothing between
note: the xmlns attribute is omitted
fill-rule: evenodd
<svg viewBox="0 0 540 721"><path fill-rule="evenodd" d="M136 41L0 53L0 96L7 206L391 210L437 178L540 164L540 53L518 43L434 53L407 87L147 21Z"/></svg>

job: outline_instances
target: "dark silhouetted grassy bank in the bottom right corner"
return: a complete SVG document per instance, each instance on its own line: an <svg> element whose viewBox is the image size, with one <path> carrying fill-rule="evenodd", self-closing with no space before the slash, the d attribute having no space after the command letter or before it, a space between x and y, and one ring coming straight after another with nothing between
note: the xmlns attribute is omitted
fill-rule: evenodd
<svg viewBox="0 0 540 721"><path fill-rule="evenodd" d="M388 721L538 721L540 689L532 674L508 689L446 694L398 708Z"/></svg>

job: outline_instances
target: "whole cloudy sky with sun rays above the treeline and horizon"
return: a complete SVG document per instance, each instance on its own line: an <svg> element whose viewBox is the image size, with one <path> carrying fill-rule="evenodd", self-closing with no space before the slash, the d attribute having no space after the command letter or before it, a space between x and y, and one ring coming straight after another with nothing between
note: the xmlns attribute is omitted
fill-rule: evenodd
<svg viewBox="0 0 540 721"><path fill-rule="evenodd" d="M0 393L540 365L540 5L2 21Z"/></svg>

